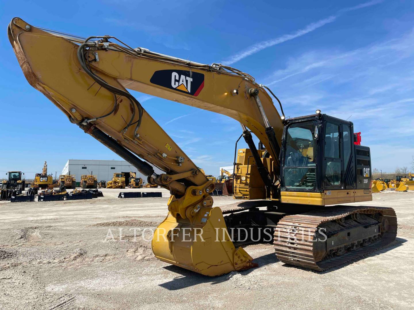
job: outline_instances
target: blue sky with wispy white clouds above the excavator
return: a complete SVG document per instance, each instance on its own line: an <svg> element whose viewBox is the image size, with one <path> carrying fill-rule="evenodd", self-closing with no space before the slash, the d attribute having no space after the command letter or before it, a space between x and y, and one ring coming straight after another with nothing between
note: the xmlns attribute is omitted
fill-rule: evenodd
<svg viewBox="0 0 414 310"><path fill-rule="evenodd" d="M316 109L354 122L373 168L414 155L412 1L12 1L0 3L0 173L58 173L67 159L119 159L70 124L27 83L6 35L12 17L78 36L205 64L229 64L272 88L286 116ZM206 173L233 162L240 125L228 117L132 92ZM243 143L239 143L244 147Z"/></svg>

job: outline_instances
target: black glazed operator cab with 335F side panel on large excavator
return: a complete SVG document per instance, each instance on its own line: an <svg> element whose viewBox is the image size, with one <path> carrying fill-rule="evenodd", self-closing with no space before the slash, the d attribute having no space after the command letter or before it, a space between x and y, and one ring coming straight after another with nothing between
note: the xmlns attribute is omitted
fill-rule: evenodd
<svg viewBox="0 0 414 310"><path fill-rule="evenodd" d="M323 193L321 204L325 205L330 204L325 197L338 196L335 191L345 191L344 201L348 201L347 196L354 197L357 189L366 189L365 193L370 194L367 200L371 200L370 150L354 144L352 122L318 113L286 119L284 124L280 172L282 202L310 203L306 197L313 196L297 195L303 201L283 197L294 196L286 194L289 192L313 192Z"/></svg>

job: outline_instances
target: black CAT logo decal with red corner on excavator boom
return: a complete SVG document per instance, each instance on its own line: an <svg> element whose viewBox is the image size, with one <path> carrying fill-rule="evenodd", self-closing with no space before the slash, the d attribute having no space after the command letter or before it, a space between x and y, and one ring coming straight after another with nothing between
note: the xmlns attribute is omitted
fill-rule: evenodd
<svg viewBox="0 0 414 310"><path fill-rule="evenodd" d="M151 83L197 97L204 87L204 74L185 70L159 70Z"/></svg>

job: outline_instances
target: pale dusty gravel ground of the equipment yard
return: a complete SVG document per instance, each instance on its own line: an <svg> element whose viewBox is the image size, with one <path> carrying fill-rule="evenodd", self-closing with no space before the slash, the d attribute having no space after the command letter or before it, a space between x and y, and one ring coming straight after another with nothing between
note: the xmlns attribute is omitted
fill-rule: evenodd
<svg viewBox="0 0 414 310"><path fill-rule="evenodd" d="M142 231L164 219L168 192L140 191L161 191L163 197L118 199L120 190L103 189L104 197L93 200L0 202L0 308L414 306L414 191L378 193L372 202L363 203L393 207L398 217L397 240L364 259L313 272L279 262L271 245L254 244L245 249L258 268L220 277L205 277L154 258L150 242L142 238L151 238L149 229L143 236ZM215 206L234 202L214 197Z"/></svg>

